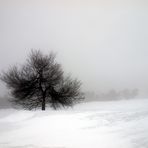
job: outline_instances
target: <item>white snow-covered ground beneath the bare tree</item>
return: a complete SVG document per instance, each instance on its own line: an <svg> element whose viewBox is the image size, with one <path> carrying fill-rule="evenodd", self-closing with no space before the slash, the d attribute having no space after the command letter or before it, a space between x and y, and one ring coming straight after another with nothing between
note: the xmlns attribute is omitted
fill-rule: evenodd
<svg viewBox="0 0 148 148"><path fill-rule="evenodd" d="M148 148L148 99L2 109L0 148Z"/></svg>

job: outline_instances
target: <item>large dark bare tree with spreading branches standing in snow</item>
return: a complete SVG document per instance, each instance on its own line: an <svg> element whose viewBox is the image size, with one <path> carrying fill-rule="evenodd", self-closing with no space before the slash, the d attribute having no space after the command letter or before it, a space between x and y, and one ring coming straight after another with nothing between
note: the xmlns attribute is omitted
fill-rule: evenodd
<svg viewBox="0 0 148 148"><path fill-rule="evenodd" d="M72 106L84 98L80 92L81 82L65 77L55 57L52 52L44 55L32 50L24 65L13 66L2 73L1 80L10 89L14 104L29 110L38 107L45 110L46 104L57 109Z"/></svg>

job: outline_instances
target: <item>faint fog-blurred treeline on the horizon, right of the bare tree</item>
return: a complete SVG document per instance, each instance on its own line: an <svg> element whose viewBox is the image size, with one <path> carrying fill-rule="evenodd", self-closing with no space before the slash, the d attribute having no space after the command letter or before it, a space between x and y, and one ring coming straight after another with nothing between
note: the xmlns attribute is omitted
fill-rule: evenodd
<svg viewBox="0 0 148 148"><path fill-rule="evenodd" d="M85 92L86 101L108 101L108 100L119 100L119 99L133 99L138 96L139 90L135 89L123 89L120 91L116 91L114 89L109 90L108 92Z"/></svg>

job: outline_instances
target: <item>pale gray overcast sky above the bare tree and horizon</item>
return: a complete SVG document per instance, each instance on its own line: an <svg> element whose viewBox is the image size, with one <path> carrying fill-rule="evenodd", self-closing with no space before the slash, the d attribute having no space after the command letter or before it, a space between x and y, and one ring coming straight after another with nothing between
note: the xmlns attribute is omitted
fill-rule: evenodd
<svg viewBox="0 0 148 148"><path fill-rule="evenodd" d="M0 0L0 70L53 50L85 90L148 94L147 27L147 0Z"/></svg>

